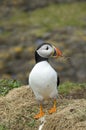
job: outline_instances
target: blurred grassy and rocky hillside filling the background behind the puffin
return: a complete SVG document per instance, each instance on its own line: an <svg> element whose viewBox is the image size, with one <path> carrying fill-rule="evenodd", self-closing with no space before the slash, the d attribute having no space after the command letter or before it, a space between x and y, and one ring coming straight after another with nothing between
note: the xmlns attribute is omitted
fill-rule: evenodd
<svg viewBox="0 0 86 130"><path fill-rule="evenodd" d="M27 84L34 50L53 43L61 82L86 82L86 0L0 0L0 79Z"/></svg>

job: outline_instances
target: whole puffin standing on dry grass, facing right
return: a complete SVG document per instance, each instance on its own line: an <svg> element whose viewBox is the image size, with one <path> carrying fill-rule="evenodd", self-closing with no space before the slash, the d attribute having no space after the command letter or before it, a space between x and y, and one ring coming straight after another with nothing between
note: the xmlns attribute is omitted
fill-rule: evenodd
<svg viewBox="0 0 86 130"><path fill-rule="evenodd" d="M52 99L53 107L49 110L49 113L56 112L56 99L60 81L58 73L49 63L50 57L62 57L61 50L50 43L42 43L35 50L36 64L29 74L29 86L40 106L40 111L35 115L35 119L45 115L43 111L44 100Z"/></svg>

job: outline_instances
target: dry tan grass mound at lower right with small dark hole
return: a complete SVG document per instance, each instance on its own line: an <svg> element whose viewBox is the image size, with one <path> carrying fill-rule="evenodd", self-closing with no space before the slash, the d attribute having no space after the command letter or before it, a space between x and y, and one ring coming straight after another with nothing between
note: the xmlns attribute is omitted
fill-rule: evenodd
<svg viewBox="0 0 86 130"><path fill-rule="evenodd" d="M86 100L72 100L46 118L42 130L86 130Z"/></svg>

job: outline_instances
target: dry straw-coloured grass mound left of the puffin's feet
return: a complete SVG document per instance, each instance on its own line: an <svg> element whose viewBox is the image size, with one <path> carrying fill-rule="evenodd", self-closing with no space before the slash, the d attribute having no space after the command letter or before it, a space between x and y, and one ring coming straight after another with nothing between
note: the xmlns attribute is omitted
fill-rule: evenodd
<svg viewBox="0 0 86 130"><path fill-rule="evenodd" d="M34 113L37 111L34 95L28 87L23 86L11 90L0 98L0 123L11 130L27 130L36 128ZM34 128L34 130L35 130Z"/></svg>

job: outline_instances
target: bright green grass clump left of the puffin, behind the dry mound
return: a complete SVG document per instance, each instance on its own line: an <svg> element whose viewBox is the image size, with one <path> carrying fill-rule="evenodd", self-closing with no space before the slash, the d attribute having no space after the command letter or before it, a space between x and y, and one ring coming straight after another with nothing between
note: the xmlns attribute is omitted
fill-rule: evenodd
<svg viewBox="0 0 86 130"><path fill-rule="evenodd" d="M12 80L12 79L1 79L0 80L0 96L5 96L9 90L13 88L18 88L22 84L20 81Z"/></svg>

